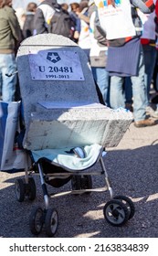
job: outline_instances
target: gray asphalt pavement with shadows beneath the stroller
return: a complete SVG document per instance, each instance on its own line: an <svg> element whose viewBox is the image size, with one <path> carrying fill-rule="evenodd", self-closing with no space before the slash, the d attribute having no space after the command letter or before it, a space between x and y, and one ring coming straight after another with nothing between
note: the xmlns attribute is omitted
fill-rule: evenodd
<svg viewBox="0 0 158 256"><path fill-rule="evenodd" d="M111 226L103 216L109 191L90 195L67 195L50 199L58 210L56 238L158 238L158 125L135 128L133 123L117 147L109 148L104 158L114 195L132 198L135 215L122 227ZM100 165L94 165L99 170ZM35 206L44 207L39 176L34 176L37 197L18 202L15 181L24 173L0 173L0 237L35 238L29 229L29 215ZM101 187L102 176L92 176L93 187ZM67 191L47 186L48 191ZM45 229L37 237L47 237Z"/></svg>

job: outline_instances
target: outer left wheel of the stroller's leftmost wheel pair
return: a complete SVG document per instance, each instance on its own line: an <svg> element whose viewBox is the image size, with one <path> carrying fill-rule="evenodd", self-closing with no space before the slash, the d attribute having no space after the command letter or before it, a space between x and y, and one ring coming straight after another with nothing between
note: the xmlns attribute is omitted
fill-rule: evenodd
<svg viewBox="0 0 158 256"><path fill-rule="evenodd" d="M16 199L19 202L23 202L26 195L26 187L22 178L16 179L15 183Z"/></svg>

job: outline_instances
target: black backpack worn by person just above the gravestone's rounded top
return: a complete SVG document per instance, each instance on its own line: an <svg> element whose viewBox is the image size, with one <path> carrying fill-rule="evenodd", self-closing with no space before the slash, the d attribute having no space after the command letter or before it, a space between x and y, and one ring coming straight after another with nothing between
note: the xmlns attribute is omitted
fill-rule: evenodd
<svg viewBox="0 0 158 256"><path fill-rule="evenodd" d="M49 20L47 27L48 33L62 35L73 39L75 23L68 12L62 8L55 8L55 14Z"/></svg>

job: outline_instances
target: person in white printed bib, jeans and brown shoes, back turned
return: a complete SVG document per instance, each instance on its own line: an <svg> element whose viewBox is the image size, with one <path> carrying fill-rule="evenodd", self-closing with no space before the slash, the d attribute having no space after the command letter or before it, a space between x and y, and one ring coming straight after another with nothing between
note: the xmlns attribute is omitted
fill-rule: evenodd
<svg viewBox="0 0 158 256"><path fill-rule="evenodd" d="M109 42L106 69L111 75L111 108L125 107L122 83L131 77L133 95L133 117L136 127L156 124L146 118L146 90L144 83L144 59L140 37L141 19L136 8L142 13L152 13L153 0L95 0L98 7L100 27Z"/></svg>

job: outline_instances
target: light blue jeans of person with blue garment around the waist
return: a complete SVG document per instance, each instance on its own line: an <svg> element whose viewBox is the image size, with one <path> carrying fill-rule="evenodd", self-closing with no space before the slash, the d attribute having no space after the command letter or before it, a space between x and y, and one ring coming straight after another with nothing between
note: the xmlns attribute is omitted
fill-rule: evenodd
<svg viewBox="0 0 158 256"><path fill-rule="evenodd" d="M111 76L110 104L112 109L124 108L125 97L123 91L124 77ZM145 119L146 108L146 89L144 83L144 59L141 48L140 59L138 65L138 75L132 76L132 97L133 97L133 116L134 121L142 121Z"/></svg>

